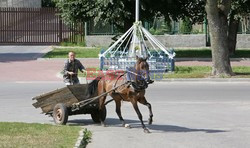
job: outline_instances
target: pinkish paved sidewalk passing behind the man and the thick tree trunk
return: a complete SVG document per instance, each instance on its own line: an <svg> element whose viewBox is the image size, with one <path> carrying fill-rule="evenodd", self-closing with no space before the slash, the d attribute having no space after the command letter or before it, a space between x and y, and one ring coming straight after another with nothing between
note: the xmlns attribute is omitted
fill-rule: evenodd
<svg viewBox="0 0 250 148"><path fill-rule="evenodd" d="M62 81L57 77L66 59L0 62L0 81ZM99 67L99 59L80 59L85 67ZM232 66L250 66L250 61L234 61ZM212 66L209 61L181 61L176 66Z"/></svg>

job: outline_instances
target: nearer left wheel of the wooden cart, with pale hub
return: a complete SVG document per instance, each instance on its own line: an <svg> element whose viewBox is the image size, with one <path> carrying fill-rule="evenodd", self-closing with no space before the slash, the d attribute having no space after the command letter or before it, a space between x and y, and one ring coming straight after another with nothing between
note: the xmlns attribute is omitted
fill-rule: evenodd
<svg viewBox="0 0 250 148"><path fill-rule="evenodd" d="M68 121L68 110L67 107L62 104L56 104L53 110L53 119L56 124L65 125Z"/></svg>

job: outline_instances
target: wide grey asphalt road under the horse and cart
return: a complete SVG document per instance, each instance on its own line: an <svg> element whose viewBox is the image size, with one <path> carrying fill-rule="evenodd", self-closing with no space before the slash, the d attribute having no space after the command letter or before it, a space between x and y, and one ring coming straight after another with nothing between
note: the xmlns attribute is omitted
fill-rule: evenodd
<svg viewBox="0 0 250 148"><path fill-rule="evenodd" d="M61 82L0 85L0 121L53 123L32 107L31 97L62 87ZM151 134L143 133L130 103L122 114L132 128L120 127L114 103L107 106L108 127L94 124L89 115L72 116L70 124L93 132L88 148L248 148L250 147L250 83L155 83L146 97L153 106ZM147 119L148 110L139 106Z"/></svg>

